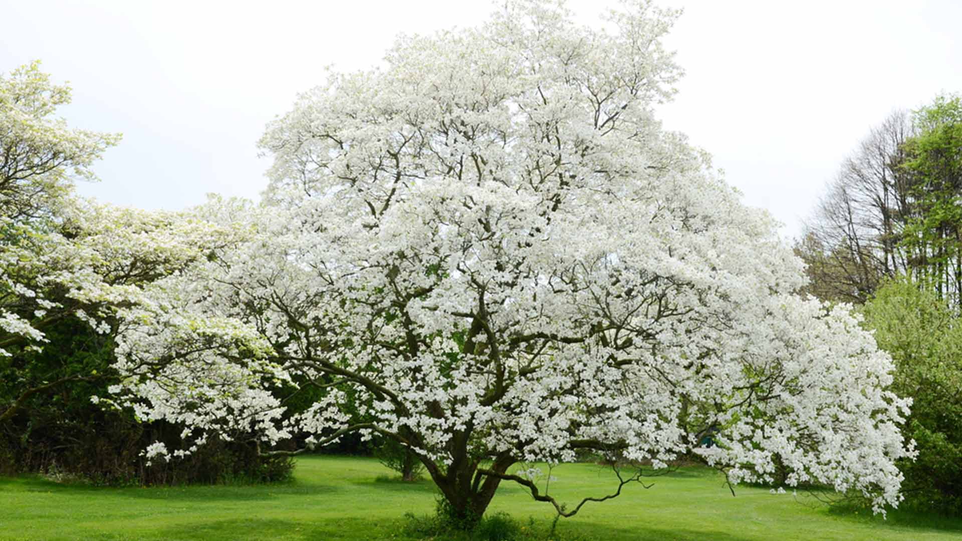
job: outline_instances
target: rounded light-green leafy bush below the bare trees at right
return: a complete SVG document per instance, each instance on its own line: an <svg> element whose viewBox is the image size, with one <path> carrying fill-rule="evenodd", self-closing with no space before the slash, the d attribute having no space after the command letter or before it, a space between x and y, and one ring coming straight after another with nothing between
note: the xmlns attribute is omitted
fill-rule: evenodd
<svg viewBox="0 0 962 541"><path fill-rule="evenodd" d="M905 278L880 288L864 313L896 363L893 388L914 399L904 432L919 455L899 464L906 501L962 512L962 319Z"/></svg>

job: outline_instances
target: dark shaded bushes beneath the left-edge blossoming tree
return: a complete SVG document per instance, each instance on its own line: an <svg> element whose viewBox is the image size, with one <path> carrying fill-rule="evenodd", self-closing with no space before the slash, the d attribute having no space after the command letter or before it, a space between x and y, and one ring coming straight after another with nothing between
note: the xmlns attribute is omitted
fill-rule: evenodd
<svg viewBox="0 0 962 541"><path fill-rule="evenodd" d="M186 458L148 466L141 451L155 441L185 447L181 429L142 424L128 411L91 403L91 396L106 395L116 383L110 334L97 334L72 318L51 325L46 334L46 348L23 352L0 370L0 402L41 389L0 423L0 474L45 472L97 484L266 482L291 476L289 457L258 456L246 442L214 438ZM42 388L64 377L77 378Z"/></svg>

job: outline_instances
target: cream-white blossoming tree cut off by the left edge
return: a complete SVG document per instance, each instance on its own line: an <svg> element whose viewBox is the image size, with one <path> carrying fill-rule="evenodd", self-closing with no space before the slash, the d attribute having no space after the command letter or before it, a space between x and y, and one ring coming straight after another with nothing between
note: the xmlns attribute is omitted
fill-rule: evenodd
<svg viewBox="0 0 962 541"><path fill-rule="evenodd" d="M119 135L68 128L56 112L69 101L70 89L38 63L0 74L0 423L43 391L98 377L80 367L31 370L28 357L49 344L51 328L79 318L112 331L117 308L149 302L140 285L233 234L76 197L73 182L95 179L91 164Z"/></svg>

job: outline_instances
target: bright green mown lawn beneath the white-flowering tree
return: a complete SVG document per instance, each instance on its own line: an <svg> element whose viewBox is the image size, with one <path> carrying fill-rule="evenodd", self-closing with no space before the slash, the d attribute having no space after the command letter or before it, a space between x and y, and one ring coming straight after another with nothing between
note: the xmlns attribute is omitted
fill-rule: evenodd
<svg viewBox="0 0 962 541"><path fill-rule="evenodd" d="M94 488L38 477L0 477L0 539L410 539L405 512L434 510L429 481L378 480L388 474L366 458L298 460L295 480L280 485L183 488ZM611 487L607 471L588 464L557 468L552 493L564 498ZM562 519L566 540L962 539L962 519L890 513L889 520L832 512L811 499L739 488L686 468L627 487L616 500L588 503ZM505 511L546 528L552 517L520 487L502 485L489 512Z"/></svg>

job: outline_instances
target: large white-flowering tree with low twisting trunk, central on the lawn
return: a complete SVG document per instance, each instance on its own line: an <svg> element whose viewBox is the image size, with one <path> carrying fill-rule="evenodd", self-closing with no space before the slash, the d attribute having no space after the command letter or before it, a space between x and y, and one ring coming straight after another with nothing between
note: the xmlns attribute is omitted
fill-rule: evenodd
<svg viewBox="0 0 962 541"><path fill-rule="evenodd" d="M899 502L891 360L793 295L772 219L653 116L674 16L629 3L593 30L509 2L302 94L262 141L264 204L198 211L244 238L127 311L128 403L200 440L391 438L465 516L502 481L577 512L518 465L582 451ZM285 414L285 387L316 400Z"/></svg>

